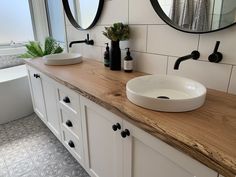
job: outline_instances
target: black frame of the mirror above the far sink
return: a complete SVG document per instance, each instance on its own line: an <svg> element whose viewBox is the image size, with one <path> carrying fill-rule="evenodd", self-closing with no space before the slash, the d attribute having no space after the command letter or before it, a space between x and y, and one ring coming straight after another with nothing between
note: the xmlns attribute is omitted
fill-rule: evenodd
<svg viewBox="0 0 236 177"><path fill-rule="evenodd" d="M71 10L70 10L70 5L68 0L62 0L62 4L64 7L64 11L66 13L67 18L69 19L70 23L77 29L79 30L87 30L87 29L91 29L92 27L94 27L102 13L102 9L103 9L103 5L104 5L104 0L99 0L99 4L98 4L98 9L97 9L97 14L93 20L93 22L91 23L91 25L88 28L82 28L74 19Z"/></svg>

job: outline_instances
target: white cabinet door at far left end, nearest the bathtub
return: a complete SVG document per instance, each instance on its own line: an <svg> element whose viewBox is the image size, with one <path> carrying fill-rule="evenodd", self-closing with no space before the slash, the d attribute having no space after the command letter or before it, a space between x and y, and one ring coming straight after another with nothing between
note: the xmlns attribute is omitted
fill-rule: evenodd
<svg viewBox="0 0 236 177"><path fill-rule="evenodd" d="M41 73L28 66L30 90L35 113L43 122L47 122Z"/></svg>

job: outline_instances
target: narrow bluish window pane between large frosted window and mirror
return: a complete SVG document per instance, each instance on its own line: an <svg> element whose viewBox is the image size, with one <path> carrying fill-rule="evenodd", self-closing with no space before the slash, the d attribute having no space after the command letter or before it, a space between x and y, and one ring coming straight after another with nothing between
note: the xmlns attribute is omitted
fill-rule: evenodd
<svg viewBox="0 0 236 177"><path fill-rule="evenodd" d="M65 24L61 1L46 0L49 33L58 42L65 42Z"/></svg>

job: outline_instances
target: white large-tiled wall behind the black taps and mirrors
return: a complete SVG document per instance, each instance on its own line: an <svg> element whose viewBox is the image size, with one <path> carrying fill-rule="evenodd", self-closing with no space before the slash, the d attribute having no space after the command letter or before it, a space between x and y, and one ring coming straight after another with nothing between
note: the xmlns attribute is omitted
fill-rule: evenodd
<svg viewBox="0 0 236 177"><path fill-rule="evenodd" d="M136 62L136 70L150 74L174 74L202 82L208 88L236 94L236 25L215 33L196 35L179 32L166 25L155 13L149 0L106 0L97 25L91 30L76 30L67 21L68 41L80 40L90 33L94 46L74 45L72 52L81 52L84 57L103 61L105 42L104 26L114 22L128 23L131 39L121 43L129 46ZM221 41L220 52L224 59L220 64L208 62L215 42ZM173 70L177 57L199 50L198 61L181 63ZM123 50L123 55L125 54Z"/></svg>

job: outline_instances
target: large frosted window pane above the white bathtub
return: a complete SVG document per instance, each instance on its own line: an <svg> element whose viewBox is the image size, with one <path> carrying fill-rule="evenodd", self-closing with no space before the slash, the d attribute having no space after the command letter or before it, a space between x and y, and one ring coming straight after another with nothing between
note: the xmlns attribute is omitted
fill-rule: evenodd
<svg viewBox="0 0 236 177"><path fill-rule="evenodd" d="M35 39L29 0L1 1L0 24L0 45Z"/></svg>

